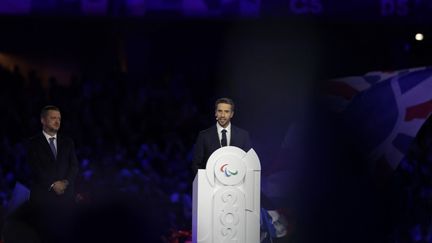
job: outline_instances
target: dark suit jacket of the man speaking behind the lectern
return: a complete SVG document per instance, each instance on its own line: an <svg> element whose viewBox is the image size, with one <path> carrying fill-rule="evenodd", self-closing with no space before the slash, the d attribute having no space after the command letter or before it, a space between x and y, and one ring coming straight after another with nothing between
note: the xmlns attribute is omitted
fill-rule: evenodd
<svg viewBox="0 0 432 243"><path fill-rule="evenodd" d="M249 151L252 147L249 133L231 124L231 141L229 145L239 147L246 152ZM220 147L216 125L201 131L198 134L194 148L192 161L192 169L194 172L196 173L198 169L205 169L210 155Z"/></svg>

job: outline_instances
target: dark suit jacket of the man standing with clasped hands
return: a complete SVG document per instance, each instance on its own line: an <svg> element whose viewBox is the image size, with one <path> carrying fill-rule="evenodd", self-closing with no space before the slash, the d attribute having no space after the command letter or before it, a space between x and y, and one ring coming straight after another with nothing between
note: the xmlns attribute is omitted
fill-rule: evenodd
<svg viewBox="0 0 432 243"><path fill-rule="evenodd" d="M31 171L30 201L43 204L72 201L78 173L78 160L72 139L57 134L57 159L42 132L30 138L27 145L27 162ZM69 185L63 195L59 196L49 190L54 181L65 179L69 181Z"/></svg>

